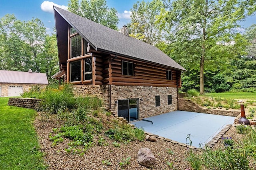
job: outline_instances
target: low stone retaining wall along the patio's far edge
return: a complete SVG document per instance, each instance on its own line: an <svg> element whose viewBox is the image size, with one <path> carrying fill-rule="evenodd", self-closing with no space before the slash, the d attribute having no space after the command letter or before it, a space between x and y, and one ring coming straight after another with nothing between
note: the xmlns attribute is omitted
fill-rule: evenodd
<svg viewBox="0 0 256 170"><path fill-rule="evenodd" d="M230 111L230 110L222 110L222 109L205 109L198 104L192 102L191 100L185 98L179 98L179 106L178 110L182 111L192 111L199 113L208 113L212 115L224 115L224 116L233 116L236 117L240 114L240 111Z"/></svg>

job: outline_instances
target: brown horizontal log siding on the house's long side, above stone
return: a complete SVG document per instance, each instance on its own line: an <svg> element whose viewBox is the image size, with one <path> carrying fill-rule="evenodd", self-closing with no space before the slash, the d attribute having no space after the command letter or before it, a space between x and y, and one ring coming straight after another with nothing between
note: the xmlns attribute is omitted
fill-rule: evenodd
<svg viewBox="0 0 256 170"><path fill-rule="evenodd" d="M103 84L177 87L177 75L178 86L181 84L180 71L120 56L112 59L114 57L109 57L102 63ZM134 76L122 75L122 61L134 63ZM166 80L166 70L172 70L172 80Z"/></svg>

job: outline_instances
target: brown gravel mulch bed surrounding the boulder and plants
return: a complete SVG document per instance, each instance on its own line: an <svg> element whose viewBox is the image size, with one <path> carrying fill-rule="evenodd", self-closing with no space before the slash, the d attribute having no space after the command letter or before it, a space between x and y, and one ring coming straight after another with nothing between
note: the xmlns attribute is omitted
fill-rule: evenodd
<svg viewBox="0 0 256 170"><path fill-rule="evenodd" d="M137 159L138 150L142 147L151 149L153 155L156 157L155 169L172 169L166 162L173 163L173 169L176 170L191 169L189 162L186 160L190 150L187 147L182 147L162 139L157 139L156 143L150 141L132 141L127 145L122 143L120 148L118 148L112 145L114 140L110 140L104 134L101 134L101 136L94 136L93 147L88 149L84 155L68 154L64 149L69 147L69 139L64 138L64 142L54 147L52 146L52 141L49 139L50 133L53 133L52 129L61 127L63 123L56 119L56 115L50 115L50 117L46 118L41 113L38 114L34 121L34 127L39 137L41 150L45 153L44 160L48 165L48 170L145 170L148 168L138 164ZM100 137L106 140L105 144L107 146L98 145L98 139ZM236 133L235 127L232 126L223 137L232 137L235 141L240 141L244 135ZM224 148L222 139L213 147L213 149L218 148ZM168 153L166 149L170 149L173 154ZM192 150L192 152L201 153L198 150ZM131 157L130 164L121 167L119 163L124 162L123 159L129 156ZM103 164L103 160L108 160L108 162L111 162L111 165L107 166Z"/></svg>

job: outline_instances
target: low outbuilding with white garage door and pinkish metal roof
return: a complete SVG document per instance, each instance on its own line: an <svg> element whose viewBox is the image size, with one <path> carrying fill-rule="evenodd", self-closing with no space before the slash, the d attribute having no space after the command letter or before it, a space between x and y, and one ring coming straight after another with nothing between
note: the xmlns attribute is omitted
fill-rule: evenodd
<svg viewBox="0 0 256 170"><path fill-rule="evenodd" d="M45 73L0 70L0 97L20 96L33 85L48 84Z"/></svg>

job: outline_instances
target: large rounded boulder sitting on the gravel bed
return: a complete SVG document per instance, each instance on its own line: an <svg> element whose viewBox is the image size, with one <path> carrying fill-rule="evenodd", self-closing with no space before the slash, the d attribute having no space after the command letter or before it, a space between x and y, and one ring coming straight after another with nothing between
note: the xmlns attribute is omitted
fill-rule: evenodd
<svg viewBox="0 0 256 170"><path fill-rule="evenodd" d="M149 148L140 148L138 151L138 162L147 168L154 168L156 158Z"/></svg>

